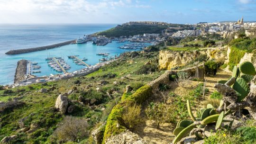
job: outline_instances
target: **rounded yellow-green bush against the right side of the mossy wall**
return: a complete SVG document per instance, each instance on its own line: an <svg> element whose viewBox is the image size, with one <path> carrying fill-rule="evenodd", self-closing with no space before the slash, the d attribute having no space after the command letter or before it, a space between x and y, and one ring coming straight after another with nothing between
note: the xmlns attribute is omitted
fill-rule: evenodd
<svg viewBox="0 0 256 144"><path fill-rule="evenodd" d="M133 131L137 126L141 125L142 118L140 117L140 106L137 106L136 104L133 106L129 106L128 108L125 108L123 113L123 121L125 126Z"/></svg>

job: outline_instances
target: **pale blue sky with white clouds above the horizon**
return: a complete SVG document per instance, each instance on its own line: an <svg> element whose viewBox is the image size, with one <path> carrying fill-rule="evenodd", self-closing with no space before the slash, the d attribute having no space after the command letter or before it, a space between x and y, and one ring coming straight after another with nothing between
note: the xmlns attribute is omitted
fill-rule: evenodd
<svg viewBox="0 0 256 144"><path fill-rule="evenodd" d="M256 20L256 0L0 0L0 23Z"/></svg>

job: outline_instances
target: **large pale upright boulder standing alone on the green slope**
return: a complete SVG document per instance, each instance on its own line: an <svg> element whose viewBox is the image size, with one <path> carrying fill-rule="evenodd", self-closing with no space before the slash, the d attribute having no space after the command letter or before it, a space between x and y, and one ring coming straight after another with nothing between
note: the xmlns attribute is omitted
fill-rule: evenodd
<svg viewBox="0 0 256 144"><path fill-rule="evenodd" d="M65 95L60 94L55 102L55 108L57 108L63 114L66 112L68 107L68 98Z"/></svg>

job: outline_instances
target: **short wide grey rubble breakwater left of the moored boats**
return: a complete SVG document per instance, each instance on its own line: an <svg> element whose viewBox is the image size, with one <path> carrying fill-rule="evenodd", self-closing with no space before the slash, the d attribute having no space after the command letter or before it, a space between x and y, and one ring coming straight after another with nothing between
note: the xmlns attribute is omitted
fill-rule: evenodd
<svg viewBox="0 0 256 144"><path fill-rule="evenodd" d="M14 83L25 80L25 74L27 74L27 60L20 60L17 64Z"/></svg>

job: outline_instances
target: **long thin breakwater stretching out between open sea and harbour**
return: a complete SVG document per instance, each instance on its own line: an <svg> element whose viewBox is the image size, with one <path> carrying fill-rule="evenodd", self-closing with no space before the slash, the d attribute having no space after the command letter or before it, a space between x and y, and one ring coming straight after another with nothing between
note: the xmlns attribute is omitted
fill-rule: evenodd
<svg viewBox="0 0 256 144"><path fill-rule="evenodd" d="M35 47L35 48L26 48L26 49L18 49L18 50L10 50L9 52L5 53L5 54L23 54L23 53L30 53L30 52L36 52L36 51L42 51L42 50L46 50L46 49L52 49L55 47L59 47L59 46L64 46L64 45L69 45L72 43L76 43L76 40L71 40L71 41L67 41L67 42L63 42L63 43L59 43L59 44L55 44L55 45L48 45L48 46L41 46L41 47Z"/></svg>

